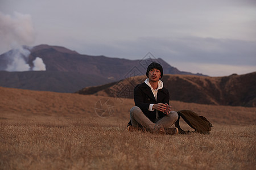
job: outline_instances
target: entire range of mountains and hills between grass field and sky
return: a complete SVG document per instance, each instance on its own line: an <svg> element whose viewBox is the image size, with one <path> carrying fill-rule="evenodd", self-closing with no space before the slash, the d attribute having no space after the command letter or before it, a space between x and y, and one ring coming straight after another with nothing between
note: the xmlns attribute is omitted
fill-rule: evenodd
<svg viewBox="0 0 256 170"><path fill-rule="evenodd" d="M161 58L147 53L142 59L129 60L79 54L62 46L23 46L22 53L32 68L36 58L42 58L46 71L0 71L0 86L27 90L114 96L120 100L133 98L133 88L146 79L151 62L163 66L164 86L171 100L213 105L242 105L255 107L255 72L223 77L199 76L179 71ZM0 56L0 70L11 64L9 51ZM86 90L85 90L86 89ZM82 91L82 92L81 92Z"/></svg>

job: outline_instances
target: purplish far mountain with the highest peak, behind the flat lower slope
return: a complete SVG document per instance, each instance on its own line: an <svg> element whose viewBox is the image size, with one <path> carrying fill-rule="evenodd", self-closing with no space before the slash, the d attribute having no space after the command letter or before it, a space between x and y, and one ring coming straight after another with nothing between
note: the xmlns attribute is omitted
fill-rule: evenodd
<svg viewBox="0 0 256 170"><path fill-rule="evenodd" d="M87 73L105 76L113 80L123 79L123 76L129 74L130 71L134 71L132 70L134 67L137 69L136 74L143 75L146 70L143 64L147 65L148 62L152 61L161 63L166 74L192 74L179 71L163 61L163 59L152 58L152 56L150 56L151 58L144 58L146 61L140 59L130 60L105 56L88 56L60 46L39 45L31 49L30 62L36 57L43 59L47 71Z"/></svg>

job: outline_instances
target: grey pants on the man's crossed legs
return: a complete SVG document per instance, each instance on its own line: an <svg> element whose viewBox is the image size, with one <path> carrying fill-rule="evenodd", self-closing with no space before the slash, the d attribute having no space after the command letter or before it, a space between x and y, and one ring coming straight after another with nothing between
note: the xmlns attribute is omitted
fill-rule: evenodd
<svg viewBox="0 0 256 170"><path fill-rule="evenodd" d="M135 106L130 110L131 125L144 127L150 131L155 131L161 126L163 128L170 128L177 121L177 118L177 112L171 111L167 116L152 122L144 115L141 108Z"/></svg>

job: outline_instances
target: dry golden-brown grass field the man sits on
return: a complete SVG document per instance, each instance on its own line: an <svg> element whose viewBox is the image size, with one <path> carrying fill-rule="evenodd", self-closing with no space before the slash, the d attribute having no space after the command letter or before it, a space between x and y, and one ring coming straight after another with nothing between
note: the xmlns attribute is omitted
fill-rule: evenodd
<svg viewBox="0 0 256 170"><path fill-rule="evenodd" d="M0 169L256 169L256 108L171 101L214 126L171 136L127 131L132 99L3 87L0 96Z"/></svg>

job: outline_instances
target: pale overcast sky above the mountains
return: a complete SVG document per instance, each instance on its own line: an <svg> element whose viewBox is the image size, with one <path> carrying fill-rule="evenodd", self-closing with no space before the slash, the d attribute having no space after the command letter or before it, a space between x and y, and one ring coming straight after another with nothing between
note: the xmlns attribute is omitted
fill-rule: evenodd
<svg viewBox="0 0 256 170"><path fill-rule="evenodd" d="M210 76L256 71L255 0L0 0L0 53L58 45Z"/></svg>

